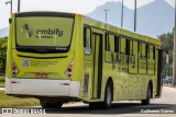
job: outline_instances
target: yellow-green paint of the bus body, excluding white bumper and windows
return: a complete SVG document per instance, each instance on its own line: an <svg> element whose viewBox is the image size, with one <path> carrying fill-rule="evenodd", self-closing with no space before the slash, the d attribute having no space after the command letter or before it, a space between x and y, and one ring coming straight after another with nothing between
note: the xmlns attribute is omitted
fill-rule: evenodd
<svg viewBox="0 0 176 117"><path fill-rule="evenodd" d="M153 95L156 94L157 87L157 61L158 51L161 49L161 42L158 39L140 35L123 28L119 28L99 21L91 20L87 16L75 14L75 22L73 27L73 20L67 17L22 17L16 19L15 14L12 14L12 23L10 24L10 34L8 42L8 56L7 56L7 78L12 78L12 60L15 62L19 73L16 78L30 78L36 79L36 72L47 73L46 79L69 79L65 71L69 63L73 61L73 75L70 80L80 81L80 100L85 102L100 102L105 98L105 89L109 78L113 82L113 100L144 100L146 97L146 89L148 81L153 83ZM31 28L33 35L37 28L57 28L64 31L64 36L55 37L52 39L40 39L38 35L31 37L26 36L26 31L23 27L24 24ZM18 28L16 28L18 27ZM84 28L88 27L86 36L84 36ZM72 35L73 32L73 35ZM109 32L109 33L108 33ZM65 34L66 33L66 34ZM100 35L94 35L94 33ZM106 34L110 35L110 50L106 50ZM119 52L114 51L114 35L121 35ZM36 38L36 36L38 38ZM84 37L88 38L90 54L85 54ZM90 42L91 38L91 42ZM130 55L125 55L125 38L132 38L130 46L133 46L133 50L130 49ZM33 39L31 42L30 39ZM56 40L55 40L56 39ZM63 40L59 40L63 39ZM96 39L96 40L95 40ZM102 39L102 45L99 45ZM70 49L67 52L59 54L33 54L25 51L18 51L16 42L24 46L68 46L70 43ZM54 43L55 42L55 43ZM139 43L142 43L142 50L138 51ZM150 44L150 57L144 58L145 46ZM100 48L101 47L101 48ZM153 47L155 47L155 60L153 59ZM99 52L102 49L102 81L100 97L98 97L98 75L99 75ZM21 56L21 57L19 57ZM26 58L35 57L35 58ZM59 58L67 56L66 58ZM48 58L53 59L40 59ZM58 57L58 58L57 58ZM38 59L36 59L38 58ZM28 59L29 67L22 67L22 61ZM146 59L148 63L148 70L146 71ZM138 70L138 66L140 69ZM155 73L154 73L155 70ZM85 75L88 75L88 92L85 92ZM94 82L94 84L92 84ZM153 96L155 97L155 96Z"/></svg>

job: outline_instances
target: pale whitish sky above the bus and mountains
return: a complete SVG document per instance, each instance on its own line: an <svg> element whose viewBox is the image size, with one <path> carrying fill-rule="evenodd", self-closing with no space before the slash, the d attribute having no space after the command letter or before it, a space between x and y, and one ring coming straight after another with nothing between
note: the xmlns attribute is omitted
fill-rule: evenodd
<svg viewBox="0 0 176 117"><path fill-rule="evenodd" d="M10 4L6 5L9 0L0 0L0 30L9 25ZM13 0L13 12L16 12L16 2ZM59 11L59 12L76 12L86 14L94 11L98 5L102 5L108 1L121 0L21 0L21 11ZM134 0L123 0L124 5L130 9L134 8ZM155 0L136 0L138 8L145 5ZM175 0L165 0L172 7Z"/></svg>

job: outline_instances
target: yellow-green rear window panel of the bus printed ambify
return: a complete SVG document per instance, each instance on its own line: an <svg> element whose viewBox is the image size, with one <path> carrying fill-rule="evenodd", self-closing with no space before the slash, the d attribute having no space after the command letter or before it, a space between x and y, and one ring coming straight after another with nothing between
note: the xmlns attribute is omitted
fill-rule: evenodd
<svg viewBox="0 0 176 117"><path fill-rule="evenodd" d="M18 16L16 49L25 51L68 51L74 17Z"/></svg>

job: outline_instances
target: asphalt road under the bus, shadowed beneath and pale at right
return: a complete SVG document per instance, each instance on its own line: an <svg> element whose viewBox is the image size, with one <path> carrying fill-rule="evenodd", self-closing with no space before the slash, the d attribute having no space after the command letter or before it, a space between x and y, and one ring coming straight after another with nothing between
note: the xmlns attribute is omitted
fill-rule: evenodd
<svg viewBox="0 0 176 117"><path fill-rule="evenodd" d="M41 109L41 107L32 107L32 109ZM62 109L46 109L46 113L25 115L25 117L176 117L176 89L164 86L162 98L153 100L151 105L141 105L141 102L136 101L118 102L113 103L110 109L90 109L88 105L77 103L64 105ZM0 117L11 116L24 117L24 115L0 115Z"/></svg>

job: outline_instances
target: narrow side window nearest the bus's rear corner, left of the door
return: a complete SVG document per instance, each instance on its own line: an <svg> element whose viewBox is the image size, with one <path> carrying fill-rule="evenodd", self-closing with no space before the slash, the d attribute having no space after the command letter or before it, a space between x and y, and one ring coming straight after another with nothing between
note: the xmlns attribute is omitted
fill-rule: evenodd
<svg viewBox="0 0 176 117"><path fill-rule="evenodd" d="M84 28L84 48L85 48L86 55L91 54L91 30L90 28Z"/></svg>

